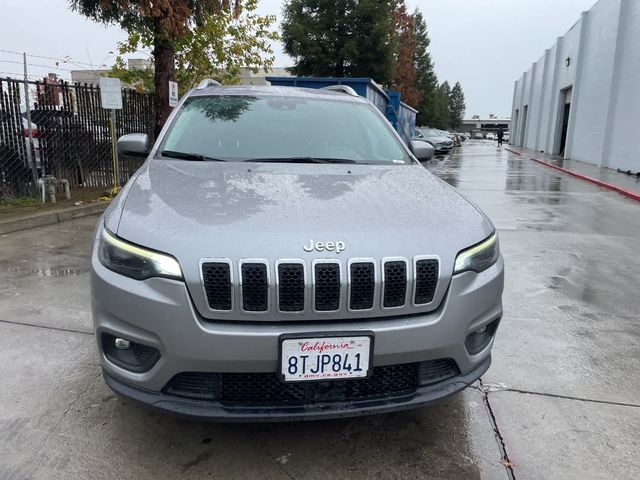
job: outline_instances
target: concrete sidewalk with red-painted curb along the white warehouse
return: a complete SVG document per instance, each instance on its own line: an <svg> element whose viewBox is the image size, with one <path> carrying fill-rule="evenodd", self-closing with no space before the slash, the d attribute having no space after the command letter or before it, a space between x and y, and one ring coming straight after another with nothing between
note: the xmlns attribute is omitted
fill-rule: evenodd
<svg viewBox="0 0 640 480"><path fill-rule="evenodd" d="M504 148L552 168L556 167L557 170L564 171L582 180L617 191L635 200L640 200L640 177L635 175L628 175L610 168L602 168L578 160L568 160L557 155L540 153L527 148L518 148L511 145Z"/></svg>

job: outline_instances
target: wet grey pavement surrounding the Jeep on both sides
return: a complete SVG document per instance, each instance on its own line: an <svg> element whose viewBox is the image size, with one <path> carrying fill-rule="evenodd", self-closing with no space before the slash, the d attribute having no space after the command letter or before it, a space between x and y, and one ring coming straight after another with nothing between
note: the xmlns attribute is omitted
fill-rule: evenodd
<svg viewBox="0 0 640 480"><path fill-rule="evenodd" d="M640 478L640 203L488 141L427 168L500 234L505 316L481 382L303 424L143 409L101 378L86 217L0 237L0 479Z"/></svg>

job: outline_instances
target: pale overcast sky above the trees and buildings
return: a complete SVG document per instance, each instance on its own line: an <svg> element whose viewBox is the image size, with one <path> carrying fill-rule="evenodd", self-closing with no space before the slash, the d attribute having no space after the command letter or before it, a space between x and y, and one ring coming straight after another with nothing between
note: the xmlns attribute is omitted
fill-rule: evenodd
<svg viewBox="0 0 640 480"><path fill-rule="evenodd" d="M466 95L467 113L505 116L511 112L513 82L529 69L588 10L595 0L406 0L427 21L431 54L440 80L459 81ZM281 19L282 0L260 0L260 13ZM71 58L71 63L28 59L29 74L69 70L89 64L111 65L118 41L116 27L97 25L69 10L66 0L3 2L0 28L0 76L22 72L21 57L2 50ZM291 65L275 45L276 66ZM143 55L139 55L143 56ZM18 63L14 63L18 62ZM42 66L36 66L42 65ZM66 69L66 70L64 70Z"/></svg>

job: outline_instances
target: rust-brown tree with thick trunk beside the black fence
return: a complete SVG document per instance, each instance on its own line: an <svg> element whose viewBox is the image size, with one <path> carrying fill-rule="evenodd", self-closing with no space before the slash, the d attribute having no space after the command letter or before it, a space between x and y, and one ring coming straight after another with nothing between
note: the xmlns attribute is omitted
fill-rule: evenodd
<svg viewBox="0 0 640 480"><path fill-rule="evenodd" d="M105 24L119 24L129 35L153 47L156 133L169 107L169 80L175 80L176 49L194 26L211 16L238 16L240 0L69 0L71 8ZM223 13L224 12L224 13Z"/></svg>

